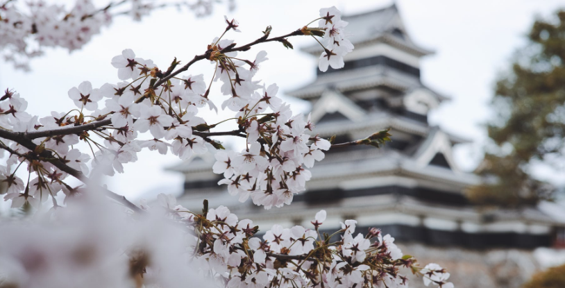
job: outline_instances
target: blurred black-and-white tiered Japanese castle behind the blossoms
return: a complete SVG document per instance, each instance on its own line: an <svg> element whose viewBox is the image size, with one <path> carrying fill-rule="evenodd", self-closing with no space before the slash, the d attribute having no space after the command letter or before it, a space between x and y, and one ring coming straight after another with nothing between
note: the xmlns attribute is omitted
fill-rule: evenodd
<svg viewBox="0 0 565 288"><path fill-rule="evenodd" d="M271 210L253 205L251 199L239 203L230 196L225 185L217 185L221 176L212 173L214 156L203 155L170 168L185 174L180 204L199 211L207 198L210 207L226 205L240 219L252 219L260 230L270 229L273 223L310 227L314 214L325 209L328 219L323 226L328 230L339 229L344 219L356 219L357 232L381 228L407 245L405 253L423 254L428 260L425 253L431 251L429 259L435 262L441 262L434 258L441 249L452 249L450 253L459 256L444 257L448 262L444 266L450 270L460 264L458 257L464 259L473 251L521 251L520 257L532 258L534 248L562 245L565 219L538 207L487 209L466 198L466 188L481 179L459 170L452 150L469 140L428 123L428 112L448 96L421 83L420 59L432 51L412 42L398 8L393 5L343 19L349 22L355 45L345 67L319 72L314 82L287 94L312 103L314 135L336 135L335 142L341 143L391 128L393 141L380 149L352 146L328 151L310 169L307 191L297 194L292 205ZM303 51L316 58L322 52L319 46ZM435 249L440 250L434 253ZM491 269L481 258L473 261L480 262L475 265L477 271ZM462 281L457 280L457 271L450 272L454 283ZM462 272L460 279L472 274ZM476 286L456 286L518 287L492 278L490 283L485 278Z"/></svg>

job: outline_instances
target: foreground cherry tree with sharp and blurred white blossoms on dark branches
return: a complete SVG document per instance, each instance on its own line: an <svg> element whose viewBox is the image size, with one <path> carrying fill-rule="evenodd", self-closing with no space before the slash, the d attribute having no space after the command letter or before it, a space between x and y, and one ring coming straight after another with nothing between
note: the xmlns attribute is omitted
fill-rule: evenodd
<svg viewBox="0 0 565 288"><path fill-rule="evenodd" d="M253 221L205 200L202 211L189 211L170 194L136 205L99 185L99 176L124 173L142 149L181 160L217 149L213 171L224 176L218 184L239 201L277 209L305 190L308 169L324 151L389 140L387 130L339 144L312 135L310 116L293 115L276 84L254 78L267 65L267 52L238 56L266 42L292 48L291 37L306 36L323 47L321 71L343 67L353 45L335 7L285 35L273 37L268 26L242 45L226 39L239 32L237 21L226 17L225 23L185 65L174 58L159 69L124 49L111 60L119 82L77 83L68 92L76 105L69 111L29 115L22 96L3 92L4 199L36 212L0 224L0 286L407 287L407 272L422 276L425 285L453 287L444 268L417 266L377 228L356 232L357 221L350 219L329 234L324 210L312 215L311 227L259 231ZM210 62L212 78L187 73L198 61ZM212 85L223 95L212 95ZM219 123L203 118L203 110L218 107L233 116ZM221 123L233 128L218 130ZM244 139L244 148L226 151L218 136Z"/></svg>

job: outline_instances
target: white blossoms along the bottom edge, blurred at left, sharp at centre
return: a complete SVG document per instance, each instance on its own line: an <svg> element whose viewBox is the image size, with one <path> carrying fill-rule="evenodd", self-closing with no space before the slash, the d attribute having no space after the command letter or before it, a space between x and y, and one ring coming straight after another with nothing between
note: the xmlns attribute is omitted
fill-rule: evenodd
<svg viewBox="0 0 565 288"><path fill-rule="evenodd" d="M275 225L258 237L253 221L238 219L224 206L197 214L178 205L174 196L160 194L153 205L142 204L151 213L131 221L129 214L96 194L82 195L67 209L53 211L47 224L0 223L0 283L396 288L408 287L399 273L407 267L426 285L453 287L441 266L419 268L394 238L378 229L355 235L356 221L346 220L332 236L322 233L324 210L310 228Z"/></svg>

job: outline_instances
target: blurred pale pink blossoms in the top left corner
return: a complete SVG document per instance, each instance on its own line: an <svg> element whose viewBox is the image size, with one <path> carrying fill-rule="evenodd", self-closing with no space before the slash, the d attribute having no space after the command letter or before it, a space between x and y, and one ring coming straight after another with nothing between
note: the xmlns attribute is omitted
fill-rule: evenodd
<svg viewBox="0 0 565 288"><path fill-rule="evenodd" d="M170 5L187 6L196 15L204 15L211 12L213 2L124 0L97 7L92 0L76 0L69 9L44 0L0 1L0 50L7 62L27 70L28 60L41 56L44 47L62 47L69 51L81 49L116 15L130 15L140 20L151 10Z"/></svg>

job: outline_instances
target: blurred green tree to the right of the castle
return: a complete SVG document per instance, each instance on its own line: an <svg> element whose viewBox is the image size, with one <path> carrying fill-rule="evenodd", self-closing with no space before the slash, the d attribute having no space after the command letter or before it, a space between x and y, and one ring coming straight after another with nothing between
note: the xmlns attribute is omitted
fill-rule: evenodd
<svg viewBox="0 0 565 288"><path fill-rule="evenodd" d="M470 189L474 201L529 205L553 194L528 168L537 161L564 163L565 10L555 16L534 22L529 44L496 83L491 104L498 115L488 125L494 145L477 170L487 184Z"/></svg>

